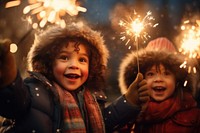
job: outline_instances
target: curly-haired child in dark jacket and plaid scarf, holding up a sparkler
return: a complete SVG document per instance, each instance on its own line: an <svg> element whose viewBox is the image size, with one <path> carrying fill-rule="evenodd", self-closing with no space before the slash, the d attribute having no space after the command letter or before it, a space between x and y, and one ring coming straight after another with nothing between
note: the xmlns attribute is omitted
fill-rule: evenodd
<svg viewBox="0 0 200 133"><path fill-rule="evenodd" d="M38 34L28 53L30 76L24 80L9 42L0 44L0 115L14 121L13 132L113 131L136 118L140 103L149 98L146 82L138 78L130 91L105 107L109 53L101 34L84 23Z"/></svg>

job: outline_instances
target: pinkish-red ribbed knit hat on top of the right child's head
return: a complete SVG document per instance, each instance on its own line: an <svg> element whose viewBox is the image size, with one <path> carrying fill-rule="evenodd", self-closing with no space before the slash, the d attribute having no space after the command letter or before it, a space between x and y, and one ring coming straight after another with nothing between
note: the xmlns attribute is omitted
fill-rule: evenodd
<svg viewBox="0 0 200 133"><path fill-rule="evenodd" d="M176 52L176 48L173 43L165 37L159 37L147 44L147 50L165 50L167 52Z"/></svg>

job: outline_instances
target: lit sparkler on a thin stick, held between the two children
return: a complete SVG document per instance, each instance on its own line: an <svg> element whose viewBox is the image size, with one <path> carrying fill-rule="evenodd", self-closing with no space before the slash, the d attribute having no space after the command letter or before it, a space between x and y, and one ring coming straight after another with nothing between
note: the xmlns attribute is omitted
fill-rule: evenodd
<svg viewBox="0 0 200 133"><path fill-rule="evenodd" d="M121 32L122 37L120 38L122 41L126 41L125 45L134 38L137 51L139 49L138 46L138 38L148 39L150 35L145 31L147 27L156 27L158 23L153 24L152 21L155 20L152 16L150 11L147 12L144 18L141 18L135 11L133 13L133 18L130 17L129 20L120 20L119 25L125 30ZM131 46L129 46L129 49ZM138 52L137 52L137 65L138 65L138 72L139 72L139 59L138 59Z"/></svg>

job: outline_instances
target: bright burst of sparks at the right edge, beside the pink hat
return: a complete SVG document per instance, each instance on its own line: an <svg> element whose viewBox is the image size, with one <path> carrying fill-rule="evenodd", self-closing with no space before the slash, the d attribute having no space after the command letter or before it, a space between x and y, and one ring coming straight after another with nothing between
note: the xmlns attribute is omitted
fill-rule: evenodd
<svg viewBox="0 0 200 133"><path fill-rule="evenodd" d="M182 42L179 52L186 56L185 61L180 65L180 68L188 69L188 73L196 73L195 65L191 65L196 58L199 58L200 51L200 20L197 20L197 25L190 25L187 20L181 26ZM192 63L193 64L193 63Z"/></svg>

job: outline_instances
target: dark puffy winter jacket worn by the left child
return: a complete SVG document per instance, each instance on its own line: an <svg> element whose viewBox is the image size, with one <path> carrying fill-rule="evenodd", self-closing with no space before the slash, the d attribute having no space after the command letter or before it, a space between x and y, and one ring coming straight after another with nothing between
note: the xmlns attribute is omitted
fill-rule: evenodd
<svg viewBox="0 0 200 133"><path fill-rule="evenodd" d="M103 107L106 97L99 92L94 94ZM13 120L9 132L62 132L62 107L57 93L48 80L38 73L31 73L31 77L24 82L18 74L11 85L1 88L0 106L0 115ZM130 119L135 119L139 110L138 107L129 105L124 96L107 108L102 108L107 131L111 132Z"/></svg>

